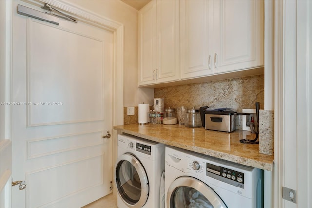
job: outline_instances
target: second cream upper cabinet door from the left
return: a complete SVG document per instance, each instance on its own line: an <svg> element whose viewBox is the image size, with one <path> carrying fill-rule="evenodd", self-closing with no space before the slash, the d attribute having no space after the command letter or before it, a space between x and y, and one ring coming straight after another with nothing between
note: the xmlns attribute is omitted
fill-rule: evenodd
<svg viewBox="0 0 312 208"><path fill-rule="evenodd" d="M180 79L180 1L157 0L156 81Z"/></svg>

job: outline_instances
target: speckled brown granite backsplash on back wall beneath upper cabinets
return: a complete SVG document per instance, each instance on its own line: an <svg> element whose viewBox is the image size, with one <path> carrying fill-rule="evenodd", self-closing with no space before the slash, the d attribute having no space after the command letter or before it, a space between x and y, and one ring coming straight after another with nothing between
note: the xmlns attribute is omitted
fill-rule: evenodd
<svg viewBox="0 0 312 208"><path fill-rule="evenodd" d="M194 83L154 89L154 98L164 98L164 107L226 107L241 112L264 104L264 75Z"/></svg>

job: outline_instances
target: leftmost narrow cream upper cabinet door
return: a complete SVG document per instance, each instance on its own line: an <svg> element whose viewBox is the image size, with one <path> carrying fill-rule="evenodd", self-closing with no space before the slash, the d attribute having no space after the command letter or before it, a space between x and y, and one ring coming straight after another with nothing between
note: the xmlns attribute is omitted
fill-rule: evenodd
<svg viewBox="0 0 312 208"><path fill-rule="evenodd" d="M139 12L139 85L156 80L156 1Z"/></svg>

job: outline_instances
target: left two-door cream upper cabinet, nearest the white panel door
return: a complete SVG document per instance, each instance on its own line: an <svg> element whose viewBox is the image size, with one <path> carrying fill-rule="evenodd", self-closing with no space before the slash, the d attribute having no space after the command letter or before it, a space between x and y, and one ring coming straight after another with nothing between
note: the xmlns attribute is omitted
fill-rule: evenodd
<svg viewBox="0 0 312 208"><path fill-rule="evenodd" d="M180 79L180 1L153 0L139 12L139 86Z"/></svg>

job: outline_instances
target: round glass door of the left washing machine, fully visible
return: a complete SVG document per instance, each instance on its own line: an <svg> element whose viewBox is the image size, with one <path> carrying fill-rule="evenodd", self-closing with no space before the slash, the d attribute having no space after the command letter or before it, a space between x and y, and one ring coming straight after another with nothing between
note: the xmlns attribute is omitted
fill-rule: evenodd
<svg viewBox="0 0 312 208"><path fill-rule="evenodd" d="M148 198L149 185L144 167L132 154L121 155L115 166L118 194L128 207L142 207Z"/></svg>

